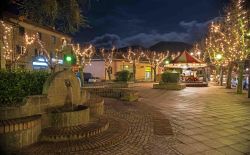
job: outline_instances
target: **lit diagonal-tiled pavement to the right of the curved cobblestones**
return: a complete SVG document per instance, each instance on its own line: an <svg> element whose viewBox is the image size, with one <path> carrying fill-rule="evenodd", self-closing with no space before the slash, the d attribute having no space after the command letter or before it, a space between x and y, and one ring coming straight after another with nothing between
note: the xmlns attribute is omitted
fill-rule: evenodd
<svg viewBox="0 0 250 155"><path fill-rule="evenodd" d="M171 146L176 152L250 155L250 99L246 94L219 86L181 91L151 88L150 84L138 88L142 102L170 120L174 129Z"/></svg>

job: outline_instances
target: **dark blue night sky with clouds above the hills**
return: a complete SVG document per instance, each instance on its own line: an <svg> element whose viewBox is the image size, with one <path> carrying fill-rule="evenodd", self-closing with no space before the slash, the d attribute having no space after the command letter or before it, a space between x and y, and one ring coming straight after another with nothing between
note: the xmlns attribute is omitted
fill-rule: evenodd
<svg viewBox="0 0 250 155"><path fill-rule="evenodd" d="M89 27L75 40L99 47L142 45L159 41L193 43L216 20L229 0L91 0Z"/></svg>

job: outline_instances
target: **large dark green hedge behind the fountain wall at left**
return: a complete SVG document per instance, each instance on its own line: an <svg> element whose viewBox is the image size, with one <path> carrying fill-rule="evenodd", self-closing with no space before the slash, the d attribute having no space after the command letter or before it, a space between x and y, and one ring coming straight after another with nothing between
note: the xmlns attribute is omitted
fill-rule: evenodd
<svg viewBox="0 0 250 155"><path fill-rule="evenodd" d="M29 95L42 94L49 74L41 71L0 70L0 106L17 106Z"/></svg>

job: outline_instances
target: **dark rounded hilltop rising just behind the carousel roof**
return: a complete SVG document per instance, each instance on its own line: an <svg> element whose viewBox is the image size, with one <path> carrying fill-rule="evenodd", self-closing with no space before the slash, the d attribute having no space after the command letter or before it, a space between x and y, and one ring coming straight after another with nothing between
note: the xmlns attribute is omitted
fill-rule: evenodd
<svg viewBox="0 0 250 155"><path fill-rule="evenodd" d="M192 45L184 43L184 42L167 42L162 41L153 46L149 49L152 51L169 51L169 52L182 52L184 50L190 50Z"/></svg>

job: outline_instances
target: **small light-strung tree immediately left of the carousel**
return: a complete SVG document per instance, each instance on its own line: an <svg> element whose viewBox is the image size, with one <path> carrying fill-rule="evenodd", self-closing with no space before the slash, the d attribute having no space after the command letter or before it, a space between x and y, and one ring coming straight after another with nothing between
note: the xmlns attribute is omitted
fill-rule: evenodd
<svg viewBox="0 0 250 155"><path fill-rule="evenodd" d="M151 68L154 71L154 82L156 82L156 70L160 64L164 62L169 56L169 52L155 52L155 51L147 51L145 52L145 56L151 65Z"/></svg>

